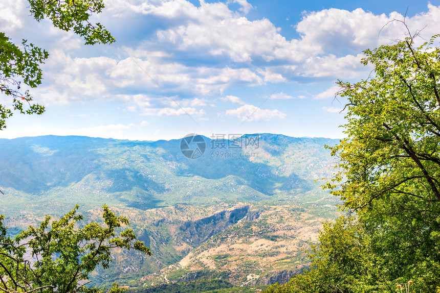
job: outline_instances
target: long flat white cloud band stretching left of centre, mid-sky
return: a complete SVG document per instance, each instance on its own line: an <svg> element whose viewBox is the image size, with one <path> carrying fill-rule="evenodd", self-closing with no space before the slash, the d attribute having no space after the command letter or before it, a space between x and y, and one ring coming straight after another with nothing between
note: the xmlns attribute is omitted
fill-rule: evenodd
<svg viewBox="0 0 440 293"><path fill-rule="evenodd" d="M233 85L263 84L262 79L248 68L207 68L163 63L156 59L135 60L136 63L131 58L71 58L55 50L46 65L49 70L46 70L45 84L36 92L43 103L68 104L81 100L108 99L108 96L119 99L119 92L127 89L148 90L160 95L168 92L213 95L221 94ZM195 98L180 103L182 106L205 106L207 100Z"/></svg>

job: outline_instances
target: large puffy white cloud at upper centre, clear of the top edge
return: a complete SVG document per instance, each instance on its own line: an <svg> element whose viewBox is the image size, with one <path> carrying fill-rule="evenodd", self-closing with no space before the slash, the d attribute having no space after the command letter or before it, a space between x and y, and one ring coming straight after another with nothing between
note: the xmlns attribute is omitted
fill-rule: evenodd
<svg viewBox="0 0 440 293"><path fill-rule="evenodd" d="M201 15L199 22L162 30L157 36L160 42L170 42L181 51L203 48L210 55L229 56L234 62L252 61L253 57L266 61L304 57L296 50L298 41L285 40L268 19L249 21L230 14L220 19Z"/></svg>

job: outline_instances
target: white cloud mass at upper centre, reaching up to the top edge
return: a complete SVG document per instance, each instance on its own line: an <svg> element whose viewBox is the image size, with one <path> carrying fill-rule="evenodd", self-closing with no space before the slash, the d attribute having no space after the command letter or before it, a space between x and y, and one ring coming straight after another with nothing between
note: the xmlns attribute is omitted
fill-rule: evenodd
<svg viewBox="0 0 440 293"><path fill-rule="evenodd" d="M252 6L244 0L234 2L248 12ZM162 1L137 6L141 13L180 20L179 25L157 32L160 42L170 42L180 51L197 50L210 55L226 55L235 62L247 62L252 56L271 61L283 56L299 60L298 41L287 41L268 19L250 21L231 11L224 3L201 2L195 7L186 1ZM275 56L274 56L275 55Z"/></svg>

